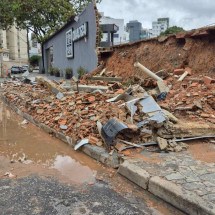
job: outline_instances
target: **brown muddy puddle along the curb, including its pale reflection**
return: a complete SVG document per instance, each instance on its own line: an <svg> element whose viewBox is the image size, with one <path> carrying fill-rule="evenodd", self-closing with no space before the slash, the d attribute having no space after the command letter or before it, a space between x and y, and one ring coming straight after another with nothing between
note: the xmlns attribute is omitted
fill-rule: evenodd
<svg viewBox="0 0 215 215"><path fill-rule="evenodd" d="M0 103L0 161L8 168L25 165L28 171L56 173L74 183L93 183L102 167L82 153L74 152L70 146L47 135L41 129L17 116ZM79 162L81 160L81 162ZM6 165L10 163L9 165ZM16 172L16 168L13 169ZM1 168L2 170L2 168ZM32 171L31 171L32 170ZM5 169L6 171L6 169ZM19 173L17 173L19 176Z"/></svg>

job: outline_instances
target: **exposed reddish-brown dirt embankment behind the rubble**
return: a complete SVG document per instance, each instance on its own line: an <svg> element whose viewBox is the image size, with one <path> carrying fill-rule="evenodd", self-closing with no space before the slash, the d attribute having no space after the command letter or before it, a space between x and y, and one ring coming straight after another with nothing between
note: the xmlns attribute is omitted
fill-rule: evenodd
<svg viewBox="0 0 215 215"><path fill-rule="evenodd" d="M133 66L136 61L154 72L165 69L171 73L176 68L190 67L193 74L213 77L214 54L215 29L209 28L121 45L115 47L113 54L103 60L108 71L125 79L138 72Z"/></svg>

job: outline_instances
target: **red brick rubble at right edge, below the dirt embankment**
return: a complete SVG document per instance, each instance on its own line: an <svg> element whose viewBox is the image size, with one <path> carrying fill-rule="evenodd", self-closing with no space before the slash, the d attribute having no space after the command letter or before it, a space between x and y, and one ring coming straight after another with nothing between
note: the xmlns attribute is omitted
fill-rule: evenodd
<svg viewBox="0 0 215 215"><path fill-rule="evenodd" d="M215 124L215 79L192 75L183 82L174 82L173 78L167 80L173 83L172 88L160 106L178 117Z"/></svg>

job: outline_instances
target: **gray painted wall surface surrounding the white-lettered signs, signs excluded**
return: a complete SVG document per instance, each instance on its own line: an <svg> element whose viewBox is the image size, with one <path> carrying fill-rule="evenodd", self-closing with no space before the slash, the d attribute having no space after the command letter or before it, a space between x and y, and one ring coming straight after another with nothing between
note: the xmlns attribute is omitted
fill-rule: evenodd
<svg viewBox="0 0 215 215"><path fill-rule="evenodd" d="M77 29L85 22L88 22L88 36L74 42L74 58L66 57L66 32ZM67 67L73 69L77 75L77 69L82 66L88 72L97 67L98 58L96 54L96 13L94 4L91 3L79 15L78 22L73 21L70 25L63 28L43 44L44 68L48 72L50 67L50 50L53 47L53 67L58 67L64 71Z"/></svg>

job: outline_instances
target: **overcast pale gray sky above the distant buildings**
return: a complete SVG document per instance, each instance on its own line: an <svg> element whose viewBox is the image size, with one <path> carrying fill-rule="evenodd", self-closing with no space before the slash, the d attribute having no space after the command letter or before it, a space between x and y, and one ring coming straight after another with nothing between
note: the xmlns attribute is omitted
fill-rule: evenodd
<svg viewBox="0 0 215 215"><path fill-rule="evenodd" d="M215 24L215 0L102 0L98 9L125 24L138 20L143 28L151 28L159 17L169 17L170 26L185 30Z"/></svg>

